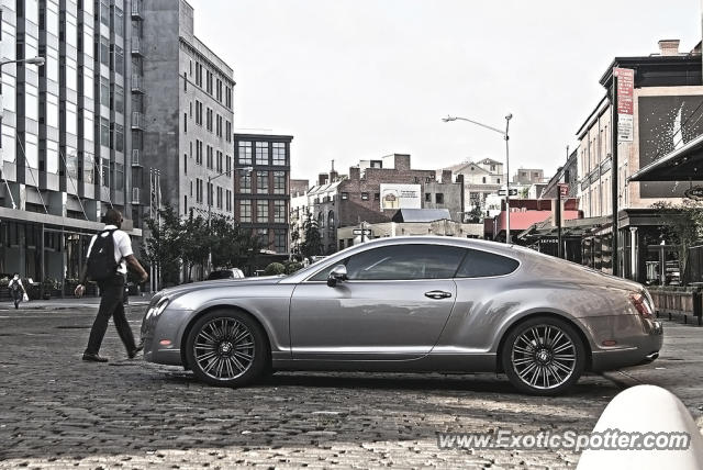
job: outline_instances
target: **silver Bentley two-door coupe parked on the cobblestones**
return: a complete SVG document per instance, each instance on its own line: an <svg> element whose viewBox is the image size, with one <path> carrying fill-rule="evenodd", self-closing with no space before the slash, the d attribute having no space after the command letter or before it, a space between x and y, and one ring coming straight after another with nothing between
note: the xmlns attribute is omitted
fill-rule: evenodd
<svg viewBox="0 0 703 470"><path fill-rule="evenodd" d="M494 371L547 395L656 359L662 327L636 282L518 246L415 236L286 277L166 289L142 339L147 361L214 385L277 370Z"/></svg>

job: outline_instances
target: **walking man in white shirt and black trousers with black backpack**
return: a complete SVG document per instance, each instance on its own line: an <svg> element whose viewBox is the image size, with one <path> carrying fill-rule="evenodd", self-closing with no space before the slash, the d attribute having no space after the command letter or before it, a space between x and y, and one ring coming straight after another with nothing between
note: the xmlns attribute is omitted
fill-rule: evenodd
<svg viewBox="0 0 703 470"><path fill-rule="evenodd" d="M118 334L127 350L127 356L133 359L142 350L142 346L134 344L132 328L124 315L124 278L127 273L126 265L130 265L144 282L148 275L136 260L132 253L130 236L122 232L122 214L114 209L108 210L102 219L105 226L98 235L93 235L88 247L88 257L80 277L80 284L76 287L76 295L81 296L86 292L86 281L91 279L98 282L100 288L100 307L98 316L90 329L88 347L83 352L83 360L93 362L107 362L108 359L100 356L100 345L108 329L108 321L112 316Z"/></svg>

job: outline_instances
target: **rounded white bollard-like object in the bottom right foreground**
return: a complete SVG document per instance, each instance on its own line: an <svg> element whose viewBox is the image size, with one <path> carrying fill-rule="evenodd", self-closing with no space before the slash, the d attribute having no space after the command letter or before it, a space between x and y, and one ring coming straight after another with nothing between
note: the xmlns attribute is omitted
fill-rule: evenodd
<svg viewBox="0 0 703 470"><path fill-rule="evenodd" d="M635 440L649 436L649 447L666 447L657 445L663 444L665 434L670 436L671 433L687 433L691 438L685 450L587 449L581 455L577 470L703 470L701 432L681 400L660 387L637 385L618 393L607 404L593 428L593 433L599 434L609 430L616 430ZM655 436L659 443L655 441Z"/></svg>

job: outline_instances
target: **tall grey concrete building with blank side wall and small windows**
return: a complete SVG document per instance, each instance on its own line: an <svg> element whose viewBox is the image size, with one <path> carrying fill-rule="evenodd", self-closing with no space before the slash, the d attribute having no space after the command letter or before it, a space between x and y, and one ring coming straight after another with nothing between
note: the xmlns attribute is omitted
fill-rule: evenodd
<svg viewBox="0 0 703 470"><path fill-rule="evenodd" d="M155 199L181 215L233 216L232 68L196 37L188 2L133 1L134 216Z"/></svg>

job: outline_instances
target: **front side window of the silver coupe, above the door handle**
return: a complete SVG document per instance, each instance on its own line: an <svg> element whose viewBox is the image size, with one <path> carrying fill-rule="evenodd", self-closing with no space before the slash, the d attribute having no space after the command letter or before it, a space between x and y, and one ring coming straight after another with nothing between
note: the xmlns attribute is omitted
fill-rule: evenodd
<svg viewBox="0 0 703 470"><path fill-rule="evenodd" d="M349 280L453 278L465 249L440 245L394 245L369 249L347 261Z"/></svg>

